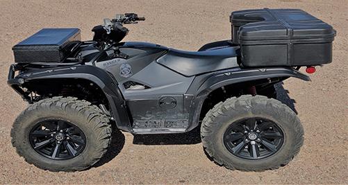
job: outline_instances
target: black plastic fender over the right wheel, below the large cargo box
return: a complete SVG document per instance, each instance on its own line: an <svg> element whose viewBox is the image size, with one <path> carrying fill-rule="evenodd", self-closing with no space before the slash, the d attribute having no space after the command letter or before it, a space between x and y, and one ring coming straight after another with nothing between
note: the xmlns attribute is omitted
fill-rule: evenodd
<svg viewBox="0 0 348 185"><path fill-rule="evenodd" d="M202 83L195 83L195 87L190 87L188 94L196 92L194 98L194 105L190 110L190 127L187 131L192 130L199 124L199 116L201 113L201 107L206 100L206 97L210 92L215 89L224 87L226 85L233 85L240 82L248 82L253 80L261 80L267 78L289 78L295 77L301 80L310 81L310 78L305 74L293 69L291 67L269 67L262 69L229 69L224 71L217 71L210 73L203 78L197 77L197 81Z"/></svg>

